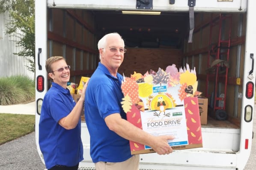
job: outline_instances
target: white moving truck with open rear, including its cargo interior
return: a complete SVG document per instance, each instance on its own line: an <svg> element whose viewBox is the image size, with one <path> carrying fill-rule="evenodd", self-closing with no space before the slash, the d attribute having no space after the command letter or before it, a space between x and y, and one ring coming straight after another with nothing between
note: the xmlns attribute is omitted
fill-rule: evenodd
<svg viewBox="0 0 256 170"><path fill-rule="evenodd" d="M46 59L63 56L71 65L70 82L79 83L98 65L98 40L118 32L127 49L119 73L189 64L196 69L197 91L208 102L203 147L141 154L140 169L242 170L253 140L255 6L255 0L35 0L35 130L42 161L39 118L51 85ZM79 169L92 170L85 121Z"/></svg>

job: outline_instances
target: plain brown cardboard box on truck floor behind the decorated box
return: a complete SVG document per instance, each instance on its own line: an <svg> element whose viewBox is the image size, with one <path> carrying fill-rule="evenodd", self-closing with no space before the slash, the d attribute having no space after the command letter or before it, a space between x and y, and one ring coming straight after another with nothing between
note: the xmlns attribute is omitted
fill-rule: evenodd
<svg viewBox="0 0 256 170"><path fill-rule="evenodd" d="M208 98L203 96L198 97L198 105L201 124L206 125L208 112Z"/></svg>

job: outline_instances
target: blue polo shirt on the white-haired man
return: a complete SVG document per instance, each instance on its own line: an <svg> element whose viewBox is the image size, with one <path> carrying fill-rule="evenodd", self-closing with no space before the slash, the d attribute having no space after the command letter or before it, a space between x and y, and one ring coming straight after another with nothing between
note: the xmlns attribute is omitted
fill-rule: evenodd
<svg viewBox="0 0 256 170"><path fill-rule="evenodd" d="M99 63L86 88L85 120L90 134L90 154L93 162L121 162L131 158L129 141L111 131L104 118L120 113L126 120L121 101L123 77L113 77L107 68Z"/></svg>

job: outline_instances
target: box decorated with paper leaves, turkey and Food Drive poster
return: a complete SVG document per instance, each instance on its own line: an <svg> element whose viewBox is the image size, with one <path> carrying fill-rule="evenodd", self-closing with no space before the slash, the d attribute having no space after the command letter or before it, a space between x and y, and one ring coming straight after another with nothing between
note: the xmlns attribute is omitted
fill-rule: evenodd
<svg viewBox="0 0 256 170"><path fill-rule="evenodd" d="M125 77L125 76L124 76ZM122 82L122 108L127 120L151 135L173 135L173 149L202 147L196 71L170 65L157 72L136 73ZM131 154L155 152L130 141Z"/></svg>

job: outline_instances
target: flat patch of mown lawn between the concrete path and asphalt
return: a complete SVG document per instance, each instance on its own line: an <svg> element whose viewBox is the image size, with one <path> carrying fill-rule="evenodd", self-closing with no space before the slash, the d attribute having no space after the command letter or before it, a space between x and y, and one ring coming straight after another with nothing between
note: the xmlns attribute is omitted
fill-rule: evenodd
<svg viewBox="0 0 256 170"><path fill-rule="evenodd" d="M0 114L0 145L34 131L35 115Z"/></svg>

